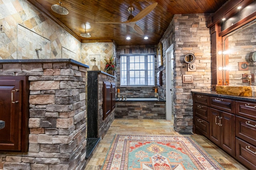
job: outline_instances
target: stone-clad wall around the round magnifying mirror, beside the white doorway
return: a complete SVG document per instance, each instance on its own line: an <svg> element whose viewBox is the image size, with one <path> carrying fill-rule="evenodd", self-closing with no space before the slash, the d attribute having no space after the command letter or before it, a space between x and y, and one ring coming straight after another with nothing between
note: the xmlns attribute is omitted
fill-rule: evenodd
<svg viewBox="0 0 256 170"><path fill-rule="evenodd" d="M210 14L175 14L162 39L163 61L165 51L174 45L174 129L192 132L192 91L211 90L211 39L207 20ZM183 68L184 56L192 53L196 57L195 71ZM165 62L164 67L165 69ZM182 75L193 75L193 83L183 83ZM163 70L165 77L165 70Z"/></svg>

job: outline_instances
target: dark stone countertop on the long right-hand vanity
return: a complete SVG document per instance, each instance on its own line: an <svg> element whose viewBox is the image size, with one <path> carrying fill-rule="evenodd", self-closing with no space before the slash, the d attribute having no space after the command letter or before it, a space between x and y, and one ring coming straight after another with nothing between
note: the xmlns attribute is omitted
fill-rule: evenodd
<svg viewBox="0 0 256 170"><path fill-rule="evenodd" d="M216 92L192 92L196 94L202 94L202 95L211 95L218 98L228 98L232 100L241 100L245 102L256 102L256 97L250 97L250 96L232 96L232 95L225 95L225 94L217 94Z"/></svg>

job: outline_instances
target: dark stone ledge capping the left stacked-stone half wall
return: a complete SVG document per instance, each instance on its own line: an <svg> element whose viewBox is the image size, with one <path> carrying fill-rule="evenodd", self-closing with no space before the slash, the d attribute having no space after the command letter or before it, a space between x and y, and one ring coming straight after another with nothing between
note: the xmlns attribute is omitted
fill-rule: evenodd
<svg viewBox="0 0 256 170"><path fill-rule="evenodd" d="M6 63L72 63L84 68L89 68L88 65L75 61L73 59L13 59L0 60L0 64Z"/></svg>

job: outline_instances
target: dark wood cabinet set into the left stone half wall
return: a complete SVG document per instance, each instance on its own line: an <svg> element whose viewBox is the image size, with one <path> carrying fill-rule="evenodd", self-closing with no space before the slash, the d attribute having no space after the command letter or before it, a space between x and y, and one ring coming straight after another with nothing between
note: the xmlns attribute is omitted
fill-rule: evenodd
<svg viewBox="0 0 256 170"><path fill-rule="evenodd" d="M27 76L0 76L0 152L28 151L28 95Z"/></svg>

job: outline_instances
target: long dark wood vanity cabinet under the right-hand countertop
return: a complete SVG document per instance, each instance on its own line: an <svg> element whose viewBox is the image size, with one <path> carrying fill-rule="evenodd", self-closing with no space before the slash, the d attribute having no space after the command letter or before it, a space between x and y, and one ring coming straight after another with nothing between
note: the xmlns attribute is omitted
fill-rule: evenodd
<svg viewBox="0 0 256 170"><path fill-rule="evenodd" d="M204 135L249 169L256 169L256 99L245 100L194 92L194 133Z"/></svg>

